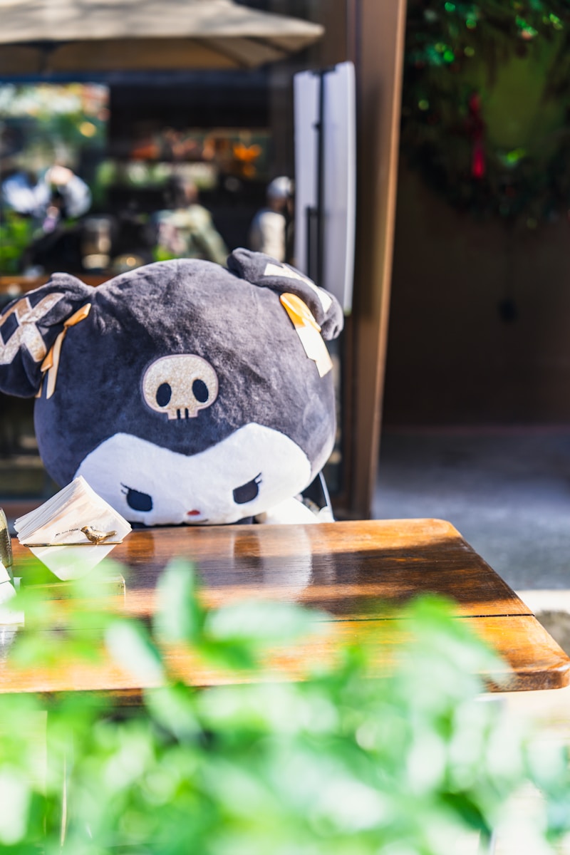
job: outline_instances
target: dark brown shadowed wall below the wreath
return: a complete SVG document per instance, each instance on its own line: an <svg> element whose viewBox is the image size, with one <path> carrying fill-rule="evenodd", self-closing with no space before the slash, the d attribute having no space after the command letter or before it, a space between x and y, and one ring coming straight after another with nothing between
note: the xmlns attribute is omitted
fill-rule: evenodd
<svg viewBox="0 0 570 855"><path fill-rule="evenodd" d="M402 168L384 423L513 422L570 422L570 224L509 237Z"/></svg>

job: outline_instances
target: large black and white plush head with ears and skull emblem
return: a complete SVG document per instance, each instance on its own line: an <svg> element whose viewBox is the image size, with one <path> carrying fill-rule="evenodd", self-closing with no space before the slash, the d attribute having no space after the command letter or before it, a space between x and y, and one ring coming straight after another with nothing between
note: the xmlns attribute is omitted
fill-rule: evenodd
<svg viewBox="0 0 570 855"><path fill-rule="evenodd" d="M83 475L130 522L238 522L326 463L322 338L341 327L335 298L246 250L228 269L159 262L97 288L55 274L0 315L0 390L36 395L58 484Z"/></svg>

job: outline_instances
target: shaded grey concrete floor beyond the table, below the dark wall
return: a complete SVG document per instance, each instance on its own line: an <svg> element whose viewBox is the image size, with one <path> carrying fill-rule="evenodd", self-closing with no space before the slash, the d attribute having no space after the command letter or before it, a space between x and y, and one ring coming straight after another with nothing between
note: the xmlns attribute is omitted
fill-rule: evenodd
<svg viewBox="0 0 570 855"><path fill-rule="evenodd" d="M570 428L386 431L373 516L442 517L515 590L570 588Z"/></svg>

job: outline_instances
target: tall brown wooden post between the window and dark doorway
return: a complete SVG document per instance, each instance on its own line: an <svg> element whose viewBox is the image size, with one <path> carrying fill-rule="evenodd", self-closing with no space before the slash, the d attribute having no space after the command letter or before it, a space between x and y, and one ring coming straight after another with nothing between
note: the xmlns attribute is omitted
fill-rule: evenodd
<svg viewBox="0 0 570 855"><path fill-rule="evenodd" d="M379 458L396 215L406 0L352 0L357 196L351 345L347 516L371 515Z"/></svg>

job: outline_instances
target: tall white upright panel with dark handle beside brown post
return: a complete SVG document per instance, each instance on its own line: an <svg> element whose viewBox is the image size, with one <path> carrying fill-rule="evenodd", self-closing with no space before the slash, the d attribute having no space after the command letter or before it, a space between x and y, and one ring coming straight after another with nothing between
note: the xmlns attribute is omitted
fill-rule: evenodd
<svg viewBox="0 0 570 855"><path fill-rule="evenodd" d="M293 87L295 263L350 312L356 221L354 65L340 62L325 71L300 72Z"/></svg>

